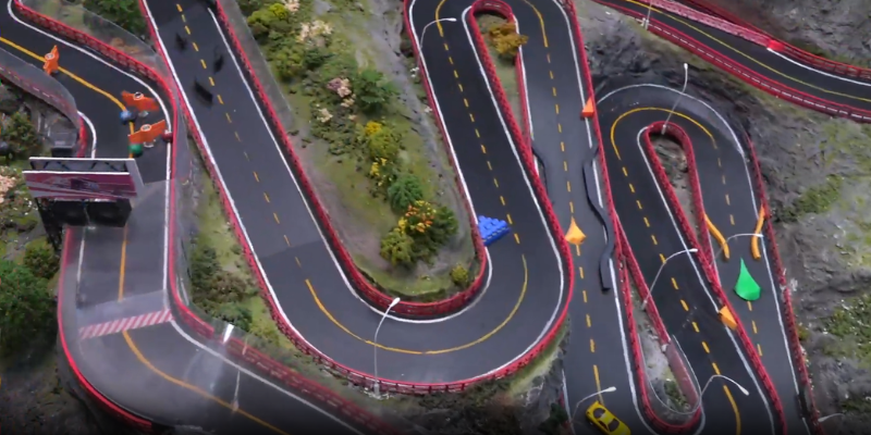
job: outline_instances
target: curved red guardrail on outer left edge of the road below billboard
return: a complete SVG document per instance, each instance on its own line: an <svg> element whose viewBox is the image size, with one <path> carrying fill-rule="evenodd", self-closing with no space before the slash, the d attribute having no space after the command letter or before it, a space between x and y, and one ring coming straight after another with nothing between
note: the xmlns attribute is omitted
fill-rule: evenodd
<svg viewBox="0 0 871 435"><path fill-rule="evenodd" d="M133 427L137 431L142 431L143 433L151 433L151 422L140 419L124 409L121 409L118 405L112 402L111 400L107 399L103 395L100 394L93 385L88 382L85 375L82 374L82 371L78 370L78 365L75 363L75 359L70 355L70 346L66 344L66 335L63 332L63 303L65 301L64 297L64 276L66 274L66 261L68 256L70 253L70 237L72 233L66 231L63 236L63 253L61 254L61 270L58 279L58 336L61 339L61 348L63 349L63 353L66 357L66 361L70 363L70 370L73 372L73 375L78 382L78 385L85 390L85 394L90 398L90 400L97 403L103 411L108 412L110 415L113 415L115 419L124 423L125 425Z"/></svg>

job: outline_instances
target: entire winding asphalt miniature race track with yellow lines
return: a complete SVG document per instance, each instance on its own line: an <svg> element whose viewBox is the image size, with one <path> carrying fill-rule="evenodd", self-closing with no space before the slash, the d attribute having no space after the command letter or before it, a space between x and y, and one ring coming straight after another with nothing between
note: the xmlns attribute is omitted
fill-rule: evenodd
<svg viewBox="0 0 871 435"><path fill-rule="evenodd" d="M175 82L169 85L182 92L181 104L172 105L168 101L173 97L164 95L160 84L122 71L85 44L25 22L14 12L13 0L8 1L0 13L0 48L39 66L41 54L59 46L63 70L57 78L75 97L89 125L94 156L126 156L131 130L118 121L122 90L143 91L161 101L163 113L145 121L172 120L183 104L280 324L347 372L376 377L370 340L381 312L353 288L328 243L324 222L312 211L316 199L300 187L304 175L292 164L294 157L282 145L281 132L267 120L268 102L246 75L247 61L232 47L235 36L216 13L200 0L142 0L158 35L155 45ZM633 0L600 2L634 17L648 11ZM789 341L786 326L793 319L783 310L788 296L782 296L783 273L769 244L773 233L748 236L762 234L760 212L768 212L749 139L702 101L660 84L609 83L598 91L597 116L579 116L592 97L592 83L580 52L581 35L569 16L574 9L556 0L491 3L496 9L504 5L503 14L510 10L520 33L529 36L519 57L523 119L515 120L500 104L504 92L488 79L488 55L481 52L470 16L478 2L408 0L405 13L419 50L420 74L470 208L476 215L506 220L512 234L488 248L484 287L468 307L428 320L389 316L375 345L377 377L424 388L465 387L526 357L568 306L572 350L564 361L564 405L569 413L580 409L573 431L594 433L580 414L598 399L633 433L665 432L642 411L645 401L658 399L639 388L630 349L635 327L627 324L626 307L631 301L619 291L628 283L621 278L617 259L631 256L643 281L636 285L652 291L649 303L686 356L697 384L723 375L748 390L744 395L734 384L714 378L702 396L700 419L684 430L809 433L812 419L806 420L796 398L802 384L796 361L803 360ZM660 9L653 10L652 22L773 83L833 107L871 110L870 85L862 80L815 71ZM186 35L191 44L180 46L176 35ZM216 71L219 53L226 62ZM438 67L427 69L428 64ZM203 99L195 80L214 99ZM661 125L672 111L670 123L683 132L682 145L695 174L690 178L698 178L694 212L703 211L710 220L701 228L706 234L698 236L688 234L685 222L704 216L685 215L675 204L671 186L663 185L661 163L651 160L646 148L648 129ZM518 124L523 137L514 128ZM539 159L541 174L525 160L527 146ZM118 413L157 425L228 434L376 432L340 412L341 407L326 406L329 398L317 396L324 401L312 401L299 394L307 393L306 387L289 387L258 374L261 368L229 356L217 340L206 340L191 325L176 322L165 229L174 219L168 182L176 167L171 147L160 144L137 160L147 194L126 228L66 232L59 311L72 364L120 408ZM539 179L547 179L548 198L537 190ZM553 214L559 227L550 221ZM579 247L569 246L567 258L561 234L573 222L586 239ZM615 241L618 234L625 235L626 246ZM686 253L688 248L699 252ZM752 302L734 291L741 263L761 288ZM739 323L735 331L719 318L724 304L734 309ZM152 313L160 313L160 320L149 318L148 326L91 332L102 331L97 325ZM764 369L753 363L760 360ZM609 387L616 390L596 395Z"/></svg>

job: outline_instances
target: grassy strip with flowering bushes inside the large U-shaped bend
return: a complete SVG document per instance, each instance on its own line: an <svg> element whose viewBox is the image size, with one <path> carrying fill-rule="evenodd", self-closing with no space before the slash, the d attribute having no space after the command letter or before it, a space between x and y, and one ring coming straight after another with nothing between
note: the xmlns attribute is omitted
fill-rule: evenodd
<svg viewBox="0 0 871 435"><path fill-rule="evenodd" d="M467 284L452 279L451 268L473 274L477 265L468 232L456 236L454 210L441 201L441 190L453 187L443 183L451 179L444 177L446 157L433 161L428 154L412 113L376 67L369 15L346 1L331 5L322 13L311 0L243 9L250 11L248 26L294 110L292 135L302 137L317 175L329 178L329 186L318 184L320 200L357 266L406 300L449 297ZM393 188L408 177L417 181L417 194L396 201ZM425 226L414 226L418 217Z"/></svg>

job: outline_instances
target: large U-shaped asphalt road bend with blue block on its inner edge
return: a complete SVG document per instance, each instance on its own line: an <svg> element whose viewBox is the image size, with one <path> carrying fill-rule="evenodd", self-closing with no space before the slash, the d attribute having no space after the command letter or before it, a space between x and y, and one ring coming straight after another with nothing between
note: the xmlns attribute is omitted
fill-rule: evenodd
<svg viewBox="0 0 871 435"><path fill-rule="evenodd" d="M309 199L292 187L298 175L286 163L285 150L262 116L262 102L214 15L195 0L146 5L284 321L336 362L373 374L370 339L381 314L349 288L309 212ZM188 30L191 47L180 49L175 34ZM437 42L441 50L428 61L477 63L468 50L447 51L437 38L426 41ZM454 44L468 46L462 33L447 41ZM219 72L210 66L216 51L230 59ZM193 91L197 77L214 84L209 85L213 103ZM486 82L477 74L455 76L450 69L430 78L440 104L464 108L443 112L449 139L476 144L454 148L475 213L506 219L513 236L489 248L487 290L469 308L432 321L391 318L382 326L378 375L418 383L474 378L520 358L550 330L568 296L566 265Z"/></svg>

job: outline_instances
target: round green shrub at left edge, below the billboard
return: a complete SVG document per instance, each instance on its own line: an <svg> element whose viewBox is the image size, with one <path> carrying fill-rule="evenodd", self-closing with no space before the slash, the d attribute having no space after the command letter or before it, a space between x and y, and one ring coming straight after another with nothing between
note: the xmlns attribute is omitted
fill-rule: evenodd
<svg viewBox="0 0 871 435"><path fill-rule="evenodd" d="M0 352L9 355L57 331L54 299L29 269L0 260Z"/></svg>

